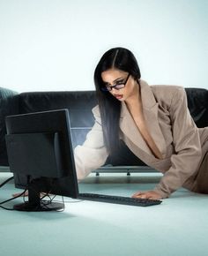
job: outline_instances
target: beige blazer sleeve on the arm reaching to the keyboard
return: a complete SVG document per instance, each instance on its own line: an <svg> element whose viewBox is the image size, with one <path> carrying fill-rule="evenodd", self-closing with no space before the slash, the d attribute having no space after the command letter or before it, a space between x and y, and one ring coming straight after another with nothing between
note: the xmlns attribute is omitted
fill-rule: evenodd
<svg viewBox="0 0 208 256"><path fill-rule="evenodd" d="M202 154L198 129L189 114L186 92L182 87L176 90L169 113L175 154L171 156L170 169L154 189L163 198L175 192L197 170Z"/></svg>

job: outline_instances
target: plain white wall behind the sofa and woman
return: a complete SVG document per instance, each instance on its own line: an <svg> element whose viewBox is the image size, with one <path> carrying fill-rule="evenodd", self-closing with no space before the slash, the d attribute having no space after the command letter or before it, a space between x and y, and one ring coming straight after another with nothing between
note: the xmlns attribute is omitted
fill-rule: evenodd
<svg viewBox="0 0 208 256"><path fill-rule="evenodd" d="M0 0L0 86L91 90L108 49L149 84L208 88L207 0Z"/></svg>

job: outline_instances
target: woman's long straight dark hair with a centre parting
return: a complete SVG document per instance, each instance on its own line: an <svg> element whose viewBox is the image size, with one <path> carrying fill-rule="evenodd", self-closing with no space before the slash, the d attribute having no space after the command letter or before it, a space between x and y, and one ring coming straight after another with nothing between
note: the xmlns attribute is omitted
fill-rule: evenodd
<svg viewBox="0 0 208 256"><path fill-rule="evenodd" d="M141 74L137 59L129 49L121 47L109 49L101 58L94 71L94 84L99 103L101 124L103 128L104 143L108 153L113 154L119 148L119 119L121 102L109 92L103 92L104 87L101 73L109 69L118 69L128 72L137 81Z"/></svg>

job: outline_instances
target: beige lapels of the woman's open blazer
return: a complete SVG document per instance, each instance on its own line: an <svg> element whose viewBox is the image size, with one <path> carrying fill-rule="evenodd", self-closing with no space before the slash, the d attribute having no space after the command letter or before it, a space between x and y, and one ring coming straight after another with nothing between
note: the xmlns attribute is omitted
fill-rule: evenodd
<svg viewBox="0 0 208 256"><path fill-rule="evenodd" d="M159 103L156 102L151 87L144 80L140 80L140 91L148 131L164 157L166 154L166 142L161 132L158 119ZM131 117L125 102L122 102L120 128L125 136L127 136L137 147L144 150L145 153L153 155L138 131L137 124L135 124Z"/></svg>

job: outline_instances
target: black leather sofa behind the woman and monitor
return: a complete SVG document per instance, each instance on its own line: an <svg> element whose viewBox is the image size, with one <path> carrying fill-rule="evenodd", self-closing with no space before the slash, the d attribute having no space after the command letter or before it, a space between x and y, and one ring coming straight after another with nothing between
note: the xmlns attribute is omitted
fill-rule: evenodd
<svg viewBox="0 0 208 256"><path fill-rule="evenodd" d="M185 88L191 116L197 127L208 126L208 90L203 88ZM0 166L8 166L6 154L5 123L4 118L9 115L23 114L50 109L69 109L71 117L71 134L73 147L81 145L85 135L93 126L92 109L97 104L94 91L69 91L69 92L33 92L18 94L9 89L0 87ZM130 152L122 144L120 152L110 155L104 168L113 165L114 169L125 171L148 169L145 163Z"/></svg>

